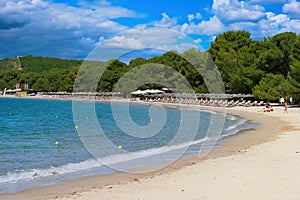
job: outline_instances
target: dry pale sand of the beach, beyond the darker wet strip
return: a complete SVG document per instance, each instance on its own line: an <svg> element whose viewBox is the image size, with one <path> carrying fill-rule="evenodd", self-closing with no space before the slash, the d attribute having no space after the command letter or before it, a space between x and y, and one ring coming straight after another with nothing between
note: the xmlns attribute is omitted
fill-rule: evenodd
<svg viewBox="0 0 300 200"><path fill-rule="evenodd" d="M282 107L272 113L259 113L257 107L234 109L272 115L297 127L242 154L61 199L300 199L300 109L289 109L289 114L283 114Z"/></svg>

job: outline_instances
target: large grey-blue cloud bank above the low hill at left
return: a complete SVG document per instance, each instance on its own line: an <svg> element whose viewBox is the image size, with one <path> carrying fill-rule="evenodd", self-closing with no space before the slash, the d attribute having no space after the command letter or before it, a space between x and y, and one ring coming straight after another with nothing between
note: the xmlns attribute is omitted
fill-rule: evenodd
<svg viewBox="0 0 300 200"><path fill-rule="evenodd" d="M0 57L12 54L56 57L85 57L97 44L99 35L109 37L128 27L113 21L136 17L126 8L105 1L74 7L43 0L1 1ZM26 51L25 51L26 50Z"/></svg>

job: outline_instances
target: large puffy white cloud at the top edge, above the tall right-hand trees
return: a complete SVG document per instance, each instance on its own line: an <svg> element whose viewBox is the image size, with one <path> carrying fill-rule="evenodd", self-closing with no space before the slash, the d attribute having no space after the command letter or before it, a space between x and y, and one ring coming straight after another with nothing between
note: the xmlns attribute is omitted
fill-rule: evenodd
<svg viewBox="0 0 300 200"><path fill-rule="evenodd" d="M225 22L258 21L264 17L264 7L238 0L214 0L212 9Z"/></svg>

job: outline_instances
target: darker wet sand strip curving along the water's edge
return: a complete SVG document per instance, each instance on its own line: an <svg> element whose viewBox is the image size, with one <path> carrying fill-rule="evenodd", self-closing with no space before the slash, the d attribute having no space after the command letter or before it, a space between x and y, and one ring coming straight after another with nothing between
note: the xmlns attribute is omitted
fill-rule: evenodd
<svg viewBox="0 0 300 200"><path fill-rule="evenodd" d="M33 97L35 98L35 97ZM98 102L98 101L97 101ZM117 101L119 102L119 101ZM131 103L131 102L130 102ZM134 102L135 103L135 102ZM141 103L141 102L137 102ZM147 102L144 102L148 104ZM152 105L152 103L150 103ZM198 109L203 108L193 105L171 105L181 108ZM206 107L205 107L206 108ZM245 110L246 109L246 110ZM248 111L247 111L248 109ZM252 107L252 109L261 109L261 107ZM188 166L193 166L205 162L206 160L214 160L220 157L241 154L247 152L248 148L265 142L274 141L279 135L283 134L283 127L288 127L288 122L284 122L280 118L268 116L266 113L249 112L249 108L228 108L226 113L239 116L255 123L262 124L261 127L255 130L247 130L228 137L224 140L221 147L214 148L208 155L200 153L195 156L181 158L171 166L162 170L144 173L144 174L126 174L117 173L103 176L84 177L74 181L67 181L55 185L45 186L41 188L33 188L13 194L1 194L1 199L55 199L66 196L77 195L82 192L87 192L95 188L110 187L109 185L123 185L128 183L138 182L139 180L152 179L155 176L164 176L165 174L176 173L176 171L184 169ZM269 114L269 113L268 113ZM270 113L271 115L272 113ZM275 124L274 124L275 122ZM268 126L273 124L271 127ZM263 132L263 134L262 134ZM275 133L274 133L275 132ZM151 167L150 167L151 168Z"/></svg>

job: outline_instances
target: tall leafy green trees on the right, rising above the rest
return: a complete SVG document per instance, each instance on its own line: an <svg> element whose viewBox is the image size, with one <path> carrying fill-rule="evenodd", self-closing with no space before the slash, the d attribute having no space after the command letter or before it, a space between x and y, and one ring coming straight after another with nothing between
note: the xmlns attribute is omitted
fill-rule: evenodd
<svg viewBox="0 0 300 200"><path fill-rule="evenodd" d="M229 93L299 97L300 35L285 32L256 41L246 31L229 31L217 36L208 52Z"/></svg>

